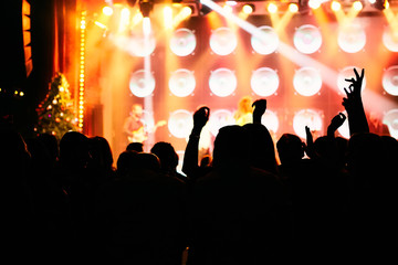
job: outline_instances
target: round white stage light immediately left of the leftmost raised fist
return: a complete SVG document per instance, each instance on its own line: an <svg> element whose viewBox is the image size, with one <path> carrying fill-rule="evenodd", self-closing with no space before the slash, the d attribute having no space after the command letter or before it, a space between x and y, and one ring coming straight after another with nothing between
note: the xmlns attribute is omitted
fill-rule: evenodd
<svg viewBox="0 0 398 265"><path fill-rule="evenodd" d="M187 138L193 126L192 114L186 109L178 109L170 114L167 126L174 137Z"/></svg>

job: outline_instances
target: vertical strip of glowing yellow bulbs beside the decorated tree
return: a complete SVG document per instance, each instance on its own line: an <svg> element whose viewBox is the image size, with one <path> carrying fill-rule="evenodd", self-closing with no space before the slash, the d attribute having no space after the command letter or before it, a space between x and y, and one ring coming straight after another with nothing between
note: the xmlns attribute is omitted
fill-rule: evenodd
<svg viewBox="0 0 398 265"><path fill-rule="evenodd" d="M80 64L78 64L78 129L83 130L84 124L84 88L85 88L85 45L86 45L86 11L81 13L80 22Z"/></svg>

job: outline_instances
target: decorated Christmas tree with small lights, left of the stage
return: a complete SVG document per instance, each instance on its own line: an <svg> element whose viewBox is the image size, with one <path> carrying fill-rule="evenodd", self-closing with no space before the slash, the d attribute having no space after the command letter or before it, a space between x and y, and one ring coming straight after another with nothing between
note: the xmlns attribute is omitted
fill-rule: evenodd
<svg viewBox="0 0 398 265"><path fill-rule="evenodd" d="M70 130L78 131L69 83L61 73L52 78L49 94L36 112L39 120L34 129L38 134L52 134L60 140Z"/></svg>

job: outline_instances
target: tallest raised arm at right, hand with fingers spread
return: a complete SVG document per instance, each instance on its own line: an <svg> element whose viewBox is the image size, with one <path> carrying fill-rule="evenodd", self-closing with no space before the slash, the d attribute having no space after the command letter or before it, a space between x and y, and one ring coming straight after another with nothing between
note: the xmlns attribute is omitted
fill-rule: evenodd
<svg viewBox="0 0 398 265"><path fill-rule="evenodd" d="M344 88L347 97L343 98L343 106L348 114L349 134L369 132L369 125L366 119L364 104L362 100L362 85L365 75L363 68L360 75L354 68L355 77L345 80L349 82L348 88Z"/></svg>

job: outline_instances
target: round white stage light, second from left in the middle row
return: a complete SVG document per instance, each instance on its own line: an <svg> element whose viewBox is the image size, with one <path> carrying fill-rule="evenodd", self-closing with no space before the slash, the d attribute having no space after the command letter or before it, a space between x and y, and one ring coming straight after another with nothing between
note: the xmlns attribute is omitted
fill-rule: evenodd
<svg viewBox="0 0 398 265"><path fill-rule="evenodd" d="M189 70L177 70L169 80L170 92L178 97L189 96L195 91L195 75Z"/></svg>

